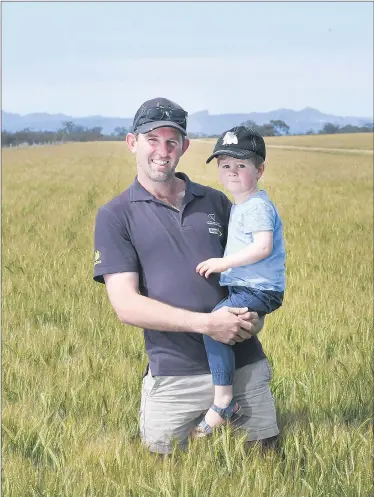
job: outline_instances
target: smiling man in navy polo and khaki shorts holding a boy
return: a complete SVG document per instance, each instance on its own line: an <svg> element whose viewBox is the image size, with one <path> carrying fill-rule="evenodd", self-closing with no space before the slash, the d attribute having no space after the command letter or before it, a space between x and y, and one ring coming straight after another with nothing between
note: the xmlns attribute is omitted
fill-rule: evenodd
<svg viewBox="0 0 374 497"><path fill-rule="evenodd" d="M94 279L105 282L123 323L144 328L149 368L143 378L141 438L149 449L185 448L209 409L214 388L203 335L234 345L234 396L248 441L276 436L270 365L256 337L256 313L223 307L218 275L197 264L222 257L231 204L217 190L175 173L186 152L187 113L165 98L144 102L126 137L137 177L96 218Z"/></svg>

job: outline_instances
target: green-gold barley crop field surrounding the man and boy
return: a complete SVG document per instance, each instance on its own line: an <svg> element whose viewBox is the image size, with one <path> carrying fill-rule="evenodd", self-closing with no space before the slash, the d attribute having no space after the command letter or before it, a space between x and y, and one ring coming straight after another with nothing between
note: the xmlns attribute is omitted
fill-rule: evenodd
<svg viewBox="0 0 374 497"><path fill-rule="evenodd" d="M220 188L211 149L178 169ZM3 495L373 496L373 156L268 150L287 292L260 333L281 429L265 454L230 427L169 457L140 444L142 332L92 279L97 208L134 177L120 142L2 151Z"/></svg>

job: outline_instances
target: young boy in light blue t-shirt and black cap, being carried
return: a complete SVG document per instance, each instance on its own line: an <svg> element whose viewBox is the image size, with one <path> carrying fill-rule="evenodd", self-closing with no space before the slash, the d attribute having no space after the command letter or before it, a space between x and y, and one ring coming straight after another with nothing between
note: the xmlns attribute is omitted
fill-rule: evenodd
<svg viewBox="0 0 374 497"><path fill-rule="evenodd" d="M208 278L221 273L220 285L228 287L222 306L248 307L260 316L282 305L285 287L285 249L282 221L277 209L258 180L264 172L265 142L246 126L237 126L222 134L213 154L217 157L219 177L233 195L224 257L201 262L196 271ZM195 429L195 436L205 436L225 421L241 415L233 399L234 351L230 345L204 335L213 384L214 403L205 419Z"/></svg>

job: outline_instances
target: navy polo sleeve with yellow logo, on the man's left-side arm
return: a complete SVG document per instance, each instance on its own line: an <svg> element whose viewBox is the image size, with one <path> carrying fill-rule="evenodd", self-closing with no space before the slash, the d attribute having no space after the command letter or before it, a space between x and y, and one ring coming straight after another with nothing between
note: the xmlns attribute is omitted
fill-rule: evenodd
<svg viewBox="0 0 374 497"><path fill-rule="evenodd" d="M125 227L101 207L96 216L94 280L104 282L104 274L139 272L138 256Z"/></svg>

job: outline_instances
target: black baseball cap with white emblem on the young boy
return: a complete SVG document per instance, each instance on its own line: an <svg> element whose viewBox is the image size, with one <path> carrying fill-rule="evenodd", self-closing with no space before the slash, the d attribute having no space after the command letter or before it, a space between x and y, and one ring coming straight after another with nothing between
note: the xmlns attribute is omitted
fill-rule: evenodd
<svg viewBox="0 0 374 497"><path fill-rule="evenodd" d="M247 126L236 126L225 131L218 138L212 155L206 161L208 164L218 155L228 155L237 159L250 159L253 154L266 159L265 141L262 136Z"/></svg>

